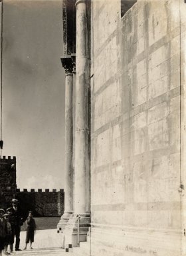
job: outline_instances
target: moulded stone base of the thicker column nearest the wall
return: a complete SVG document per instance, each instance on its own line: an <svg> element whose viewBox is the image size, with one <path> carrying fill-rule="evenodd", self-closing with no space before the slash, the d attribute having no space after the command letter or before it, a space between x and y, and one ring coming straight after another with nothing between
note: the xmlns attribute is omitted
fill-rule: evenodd
<svg viewBox="0 0 186 256"><path fill-rule="evenodd" d="M79 241L85 242L87 239L88 228L90 227L90 215L80 214L80 228L79 228ZM72 247L78 247L78 218L77 215L73 215L72 219L69 219L64 231L64 247L65 245L72 245Z"/></svg>

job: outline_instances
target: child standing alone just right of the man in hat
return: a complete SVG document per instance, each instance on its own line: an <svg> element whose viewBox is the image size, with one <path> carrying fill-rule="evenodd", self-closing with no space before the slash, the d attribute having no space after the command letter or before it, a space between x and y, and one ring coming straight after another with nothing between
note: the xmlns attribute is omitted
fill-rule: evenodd
<svg viewBox="0 0 186 256"><path fill-rule="evenodd" d="M27 244L29 243L29 241L31 243L31 249L33 249L32 243L34 241L36 225L35 225L35 219L33 218L32 211L29 211L29 217L27 217L26 219L26 224L27 224L27 237L26 237L26 245L24 250L27 249Z"/></svg>

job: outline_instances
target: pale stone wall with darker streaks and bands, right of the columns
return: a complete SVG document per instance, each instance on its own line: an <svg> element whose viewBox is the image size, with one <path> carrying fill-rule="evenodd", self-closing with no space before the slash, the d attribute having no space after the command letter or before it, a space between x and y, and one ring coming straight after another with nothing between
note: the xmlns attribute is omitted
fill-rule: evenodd
<svg viewBox="0 0 186 256"><path fill-rule="evenodd" d="M181 255L186 4L120 4L91 9L91 255Z"/></svg>

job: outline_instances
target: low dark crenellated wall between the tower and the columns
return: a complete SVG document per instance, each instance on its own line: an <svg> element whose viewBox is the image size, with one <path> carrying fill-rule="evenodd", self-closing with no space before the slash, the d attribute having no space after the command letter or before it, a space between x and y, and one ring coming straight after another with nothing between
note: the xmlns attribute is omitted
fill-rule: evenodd
<svg viewBox="0 0 186 256"><path fill-rule="evenodd" d="M56 191L56 189L17 189L16 198L19 200L19 205L23 210L23 215L27 216L28 211L33 211L36 217L57 217L64 212L64 190Z"/></svg>

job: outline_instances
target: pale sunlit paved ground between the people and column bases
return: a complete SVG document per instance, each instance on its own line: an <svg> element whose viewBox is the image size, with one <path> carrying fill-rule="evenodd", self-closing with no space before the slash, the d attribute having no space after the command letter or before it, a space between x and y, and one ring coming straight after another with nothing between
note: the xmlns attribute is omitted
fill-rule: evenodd
<svg viewBox="0 0 186 256"><path fill-rule="evenodd" d="M20 249L25 247L25 238L26 232L21 231L21 242ZM72 253L66 253L64 249L61 248L62 237L60 233L56 232L56 229L46 229L46 230L38 230L35 234L35 242L33 243L33 249L29 248L29 244L27 246L27 250L24 251L13 251L12 256L16 255L47 255L47 256L68 256L72 255Z"/></svg>

